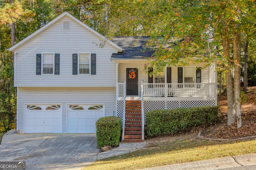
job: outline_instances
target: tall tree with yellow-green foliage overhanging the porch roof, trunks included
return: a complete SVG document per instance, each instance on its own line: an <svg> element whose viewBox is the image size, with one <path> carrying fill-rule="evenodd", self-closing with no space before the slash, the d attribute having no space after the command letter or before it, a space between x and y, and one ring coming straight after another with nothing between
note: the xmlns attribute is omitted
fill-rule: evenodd
<svg viewBox="0 0 256 170"><path fill-rule="evenodd" d="M254 9L251 10L251 6L255 6L254 0L175 1L172 12L163 17L161 25L164 31L157 32L155 40L152 41L154 45L158 45L155 57L151 60L151 65L157 66L156 71L171 64L210 63L214 61L214 57L218 58L218 63L224 63L228 95L228 125L237 121L237 127L242 125L240 34L248 26L245 26L242 21L248 20L248 16L253 16ZM162 38L159 39L159 37ZM167 48L170 45L172 47ZM216 46L222 47L220 57L215 55ZM230 52L230 47L234 55ZM234 83L232 68L235 69Z"/></svg>

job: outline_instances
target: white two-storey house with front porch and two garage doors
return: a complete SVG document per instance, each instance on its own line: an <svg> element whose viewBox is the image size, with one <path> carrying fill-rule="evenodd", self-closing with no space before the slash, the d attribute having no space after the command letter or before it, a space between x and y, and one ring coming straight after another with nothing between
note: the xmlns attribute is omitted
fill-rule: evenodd
<svg viewBox="0 0 256 170"><path fill-rule="evenodd" d="M214 64L173 66L149 77L146 57L153 52L141 50L148 39L106 40L64 12L11 47L17 130L95 133L100 117L118 116L123 141L136 142L144 140L149 110L216 105Z"/></svg>

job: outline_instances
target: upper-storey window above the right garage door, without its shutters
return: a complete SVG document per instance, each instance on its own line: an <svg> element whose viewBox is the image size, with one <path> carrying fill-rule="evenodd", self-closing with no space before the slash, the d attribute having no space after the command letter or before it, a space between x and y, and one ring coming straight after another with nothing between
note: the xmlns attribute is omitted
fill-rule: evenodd
<svg viewBox="0 0 256 170"><path fill-rule="evenodd" d="M79 53L79 74L90 74L90 53Z"/></svg>

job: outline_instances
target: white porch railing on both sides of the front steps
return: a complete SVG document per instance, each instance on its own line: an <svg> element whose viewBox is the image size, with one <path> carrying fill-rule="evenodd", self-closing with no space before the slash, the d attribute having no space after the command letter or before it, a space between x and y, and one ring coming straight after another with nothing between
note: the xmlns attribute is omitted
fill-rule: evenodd
<svg viewBox="0 0 256 170"><path fill-rule="evenodd" d="M144 97L216 97L216 83L143 83ZM118 83L118 96L124 96L124 83Z"/></svg>

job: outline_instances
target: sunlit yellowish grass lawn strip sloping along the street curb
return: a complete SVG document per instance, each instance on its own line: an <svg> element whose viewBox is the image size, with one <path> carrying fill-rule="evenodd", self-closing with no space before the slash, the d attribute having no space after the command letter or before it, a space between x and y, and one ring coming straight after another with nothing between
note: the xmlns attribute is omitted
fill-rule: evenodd
<svg viewBox="0 0 256 170"><path fill-rule="evenodd" d="M83 170L133 170L253 152L256 152L256 139L232 142L200 139L182 140L166 142L159 147L145 148L128 154L98 160Z"/></svg>

